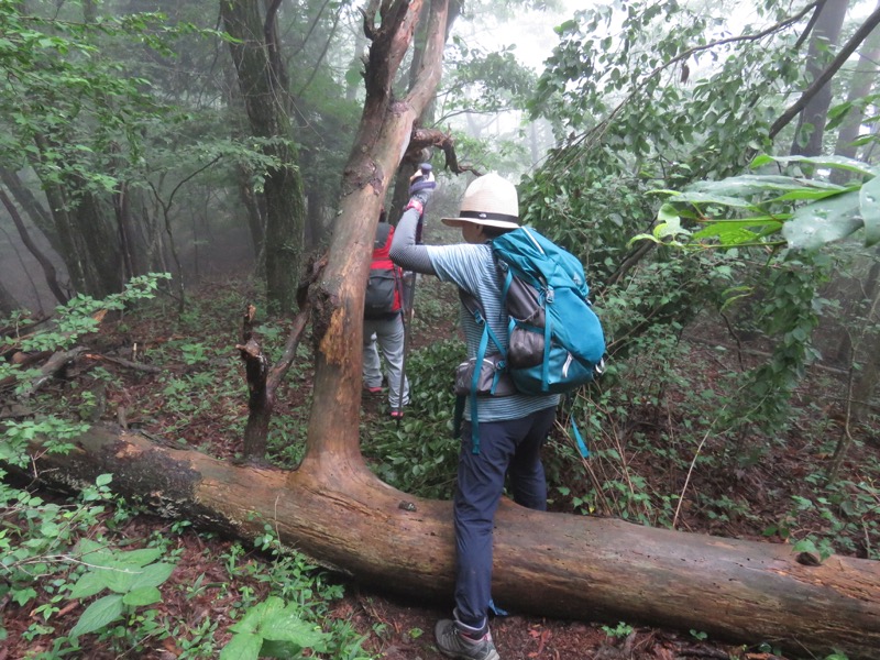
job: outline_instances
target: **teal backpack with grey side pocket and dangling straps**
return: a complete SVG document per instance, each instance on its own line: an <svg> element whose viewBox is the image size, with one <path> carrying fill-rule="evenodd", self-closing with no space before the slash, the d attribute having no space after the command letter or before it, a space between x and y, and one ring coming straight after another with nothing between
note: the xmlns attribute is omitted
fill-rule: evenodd
<svg viewBox="0 0 880 660"><path fill-rule="evenodd" d="M505 351L485 322L475 298L461 292L462 302L483 328L475 364L486 359L490 340L501 353L496 369L509 375L522 394L564 394L590 383L604 371L605 334L587 298L590 288L581 262L528 227L492 241L502 277L502 298L509 316ZM473 370L470 392L474 453L480 451L476 396L480 370ZM459 397L457 417L465 396ZM581 454L590 452L573 424ZM458 426L457 426L458 428Z"/></svg>

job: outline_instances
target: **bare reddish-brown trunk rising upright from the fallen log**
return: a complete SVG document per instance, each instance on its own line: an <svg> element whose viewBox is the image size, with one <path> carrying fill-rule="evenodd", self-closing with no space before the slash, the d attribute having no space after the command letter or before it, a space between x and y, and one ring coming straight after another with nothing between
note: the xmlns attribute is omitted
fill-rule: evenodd
<svg viewBox="0 0 880 660"><path fill-rule="evenodd" d="M422 0L378 3L364 12L372 40L365 72L366 99L342 178L339 216L327 267L310 292L315 388L306 461L362 464L358 447L361 408L363 304L380 207L406 152L413 124L440 80L447 0L431 0L421 68L402 100L392 82L416 30Z"/></svg>

